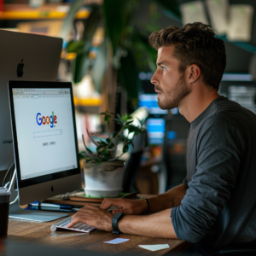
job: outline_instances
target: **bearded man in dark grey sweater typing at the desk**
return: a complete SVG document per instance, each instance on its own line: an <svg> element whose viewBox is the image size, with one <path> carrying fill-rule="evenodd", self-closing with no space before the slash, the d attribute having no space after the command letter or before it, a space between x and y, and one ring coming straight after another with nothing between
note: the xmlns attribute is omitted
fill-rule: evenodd
<svg viewBox="0 0 256 256"><path fill-rule="evenodd" d="M84 207L72 223L112 231L113 214L125 216L125 234L183 239L212 252L256 240L256 116L218 95L226 65L224 42L210 26L187 24L153 32L158 50L151 79L162 109L179 108L189 121L187 176L183 184L143 200L105 199ZM149 204L149 209L148 209ZM141 215L144 212L150 215Z"/></svg>

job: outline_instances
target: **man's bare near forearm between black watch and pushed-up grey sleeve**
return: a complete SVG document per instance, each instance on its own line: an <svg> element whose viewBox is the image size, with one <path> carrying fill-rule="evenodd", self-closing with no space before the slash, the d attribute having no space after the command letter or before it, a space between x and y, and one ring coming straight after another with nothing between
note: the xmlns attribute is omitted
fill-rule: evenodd
<svg viewBox="0 0 256 256"><path fill-rule="evenodd" d="M119 230L125 234L177 239L172 225L171 209L150 215L125 215Z"/></svg>

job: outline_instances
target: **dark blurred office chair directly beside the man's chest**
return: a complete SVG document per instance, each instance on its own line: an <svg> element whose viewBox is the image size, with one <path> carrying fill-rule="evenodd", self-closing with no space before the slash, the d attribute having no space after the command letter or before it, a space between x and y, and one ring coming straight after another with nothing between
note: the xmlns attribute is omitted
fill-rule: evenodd
<svg viewBox="0 0 256 256"><path fill-rule="evenodd" d="M159 193L183 183L186 176L186 151L189 122L182 115L166 116L159 176Z"/></svg>

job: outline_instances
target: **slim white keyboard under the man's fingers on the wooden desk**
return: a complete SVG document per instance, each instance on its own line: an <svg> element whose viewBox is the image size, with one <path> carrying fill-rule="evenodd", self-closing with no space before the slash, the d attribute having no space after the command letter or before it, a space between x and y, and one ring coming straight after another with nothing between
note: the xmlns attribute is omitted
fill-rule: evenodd
<svg viewBox="0 0 256 256"><path fill-rule="evenodd" d="M95 228L80 222L77 224L74 224L71 228L67 228L67 225L71 222L71 218L72 217L65 218L61 220L59 223L52 225L50 227L50 230L56 231L58 229L64 229L64 230L73 230L73 231L78 231L83 233L90 233L91 231L96 230Z"/></svg>

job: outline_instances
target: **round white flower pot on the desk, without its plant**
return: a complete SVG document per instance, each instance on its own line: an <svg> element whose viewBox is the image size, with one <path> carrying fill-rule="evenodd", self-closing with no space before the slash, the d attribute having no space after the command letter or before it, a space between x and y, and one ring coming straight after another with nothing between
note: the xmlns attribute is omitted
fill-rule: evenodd
<svg viewBox="0 0 256 256"><path fill-rule="evenodd" d="M123 188L125 161L85 163L84 161L84 192L87 196L115 197Z"/></svg>

